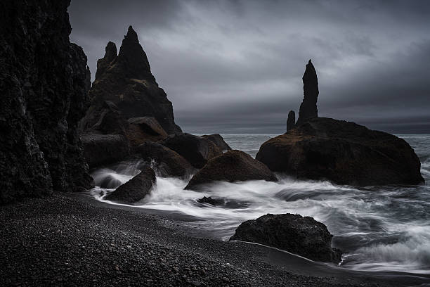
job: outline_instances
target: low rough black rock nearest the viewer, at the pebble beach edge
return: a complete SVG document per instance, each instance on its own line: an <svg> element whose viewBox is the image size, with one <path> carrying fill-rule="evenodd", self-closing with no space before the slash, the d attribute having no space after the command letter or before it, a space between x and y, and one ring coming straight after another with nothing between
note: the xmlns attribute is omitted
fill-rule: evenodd
<svg viewBox="0 0 430 287"><path fill-rule="evenodd" d="M315 261L341 261L340 250L332 248L332 234L312 217L263 215L242 222L230 238L233 240L273 246Z"/></svg>

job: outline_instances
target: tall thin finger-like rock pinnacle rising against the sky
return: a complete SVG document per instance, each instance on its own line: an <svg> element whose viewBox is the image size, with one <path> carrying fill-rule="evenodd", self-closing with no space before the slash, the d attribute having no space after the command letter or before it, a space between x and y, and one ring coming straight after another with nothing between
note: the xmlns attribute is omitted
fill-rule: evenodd
<svg viewBox="0 0 430 287"><path fill-rule="evenodd" d="M303 75L303 91L304 98L300 105L299 118L297 125L301 125L309 119L318 117L317 101L318 101L318 77L311 60L306 65L306 70Z"/></svg>

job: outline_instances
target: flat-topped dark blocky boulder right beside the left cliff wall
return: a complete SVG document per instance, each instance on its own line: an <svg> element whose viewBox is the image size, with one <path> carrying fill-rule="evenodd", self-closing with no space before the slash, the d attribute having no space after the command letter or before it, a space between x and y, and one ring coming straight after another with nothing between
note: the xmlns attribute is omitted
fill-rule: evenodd
<svg viewBox="0 0 430 287"><path fill-rule="evenodd" d="M118 162L130 154L129 142L121 134L82 134L81 139L91 168Z"/></svg>

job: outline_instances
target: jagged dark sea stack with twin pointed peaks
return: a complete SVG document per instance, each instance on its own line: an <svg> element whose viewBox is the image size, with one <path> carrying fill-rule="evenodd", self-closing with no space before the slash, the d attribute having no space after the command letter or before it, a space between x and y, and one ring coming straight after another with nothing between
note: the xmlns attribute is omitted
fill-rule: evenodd
<svg viewBox="0 0 430 287"><path fill-rule="evenodd" d="M174 121L171 101L155 82L148 58L131 26L118 55L115 44L107 44L105 56L97 62L96 79L89 94L91 108L81 122L84 132L96 125L96 114L103 109L105 101L110 101L124 119L155 117L168 134L181 133Z"/></svg>

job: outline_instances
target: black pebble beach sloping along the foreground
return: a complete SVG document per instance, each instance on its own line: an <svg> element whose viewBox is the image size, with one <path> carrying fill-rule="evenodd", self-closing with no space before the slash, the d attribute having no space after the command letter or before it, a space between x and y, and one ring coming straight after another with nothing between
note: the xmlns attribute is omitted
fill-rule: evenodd
<svg viewBox="0 0 430 287"><path fill-rule="evenodd" d="M2 286L430 284L430 275L356 272L263 245L216 240L182 224L191 217L110 205L84 193L4 205L0 218Z"/></svg>

